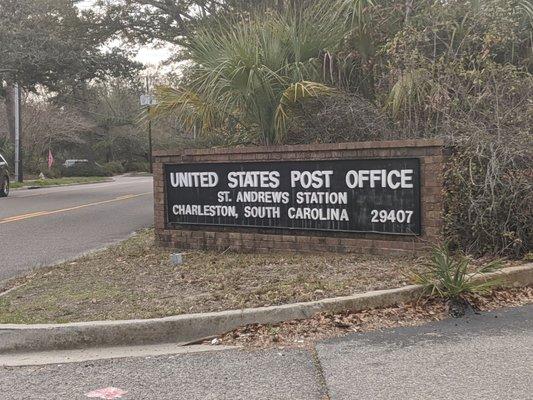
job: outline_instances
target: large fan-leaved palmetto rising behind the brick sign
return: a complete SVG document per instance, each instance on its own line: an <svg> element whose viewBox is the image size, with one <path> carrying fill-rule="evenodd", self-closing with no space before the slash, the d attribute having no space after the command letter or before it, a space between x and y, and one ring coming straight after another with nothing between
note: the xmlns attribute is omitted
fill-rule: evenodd
<svg viewBox="0 0 533 400"><path fill-rule="evenodd" d="M280 143L294 107L332 91L320 83L321 60L343 32L330 2L204 28L186 46L191 76L178 87L157 89L154 114L175 114L200 132L231 117L253 128L261 142Z"/></svg>

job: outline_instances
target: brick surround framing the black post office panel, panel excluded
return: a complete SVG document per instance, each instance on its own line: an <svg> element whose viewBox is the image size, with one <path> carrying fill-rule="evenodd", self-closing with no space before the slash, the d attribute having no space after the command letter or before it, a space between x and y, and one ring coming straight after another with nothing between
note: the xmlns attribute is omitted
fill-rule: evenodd
<svg viewBox="0 0 533 400"><path fill-rule="evenodd" d="M298 161L370 158L418 158L421 175L420 236L309 232L238 227L169 228L166 226L163 168L192 162ZM243 147L154 152L156 240L178 249L231 248L237 251L346 252L370 254L419 253L440 239L443 170L446 162L440 140L401 140L269 147Z"/></svg>

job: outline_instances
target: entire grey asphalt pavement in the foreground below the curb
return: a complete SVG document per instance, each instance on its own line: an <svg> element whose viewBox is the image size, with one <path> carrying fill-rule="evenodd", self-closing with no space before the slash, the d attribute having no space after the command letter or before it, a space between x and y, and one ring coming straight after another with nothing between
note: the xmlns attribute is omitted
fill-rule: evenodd
<svg viewBox="0 0 533 400"><path fill-rule="evenodd" d="M224 350L0 368L6 400L527 400L533 305L300 349Z"/></svg>

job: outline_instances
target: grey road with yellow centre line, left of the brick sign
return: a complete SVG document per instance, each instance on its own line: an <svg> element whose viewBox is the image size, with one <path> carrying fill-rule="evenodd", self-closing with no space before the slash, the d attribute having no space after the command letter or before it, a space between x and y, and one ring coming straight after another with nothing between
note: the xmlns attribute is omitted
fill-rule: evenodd
<svg viewBox="0 0 533 400"><path fill-rule="evenodd" d="M151 177L13 190L0 199L0 281L125 239L153 224Z"/></svg>

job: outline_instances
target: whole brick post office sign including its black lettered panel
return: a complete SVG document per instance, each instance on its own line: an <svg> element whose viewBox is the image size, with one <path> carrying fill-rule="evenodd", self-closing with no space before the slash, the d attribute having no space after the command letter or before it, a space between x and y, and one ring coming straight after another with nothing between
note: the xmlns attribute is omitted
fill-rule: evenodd
<svg viewBox="0 0 533 400"><path fill-rule="evenodd" d="M158 151L154 157L161 245L397 254L439 241L440 140Z"/></svg>

